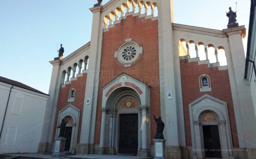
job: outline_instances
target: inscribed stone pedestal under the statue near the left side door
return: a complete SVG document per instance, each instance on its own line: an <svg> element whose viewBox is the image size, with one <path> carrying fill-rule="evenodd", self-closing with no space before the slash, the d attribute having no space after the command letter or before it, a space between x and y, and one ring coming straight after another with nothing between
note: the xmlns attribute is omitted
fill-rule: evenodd
<svg viewBox="0 0 256 159"><path fill-rule="evenodd" d="M55 138L54 150L53 154L51 155L52 158L60 158L65 156L64 148L66 140L66 138Z"/></svg>

